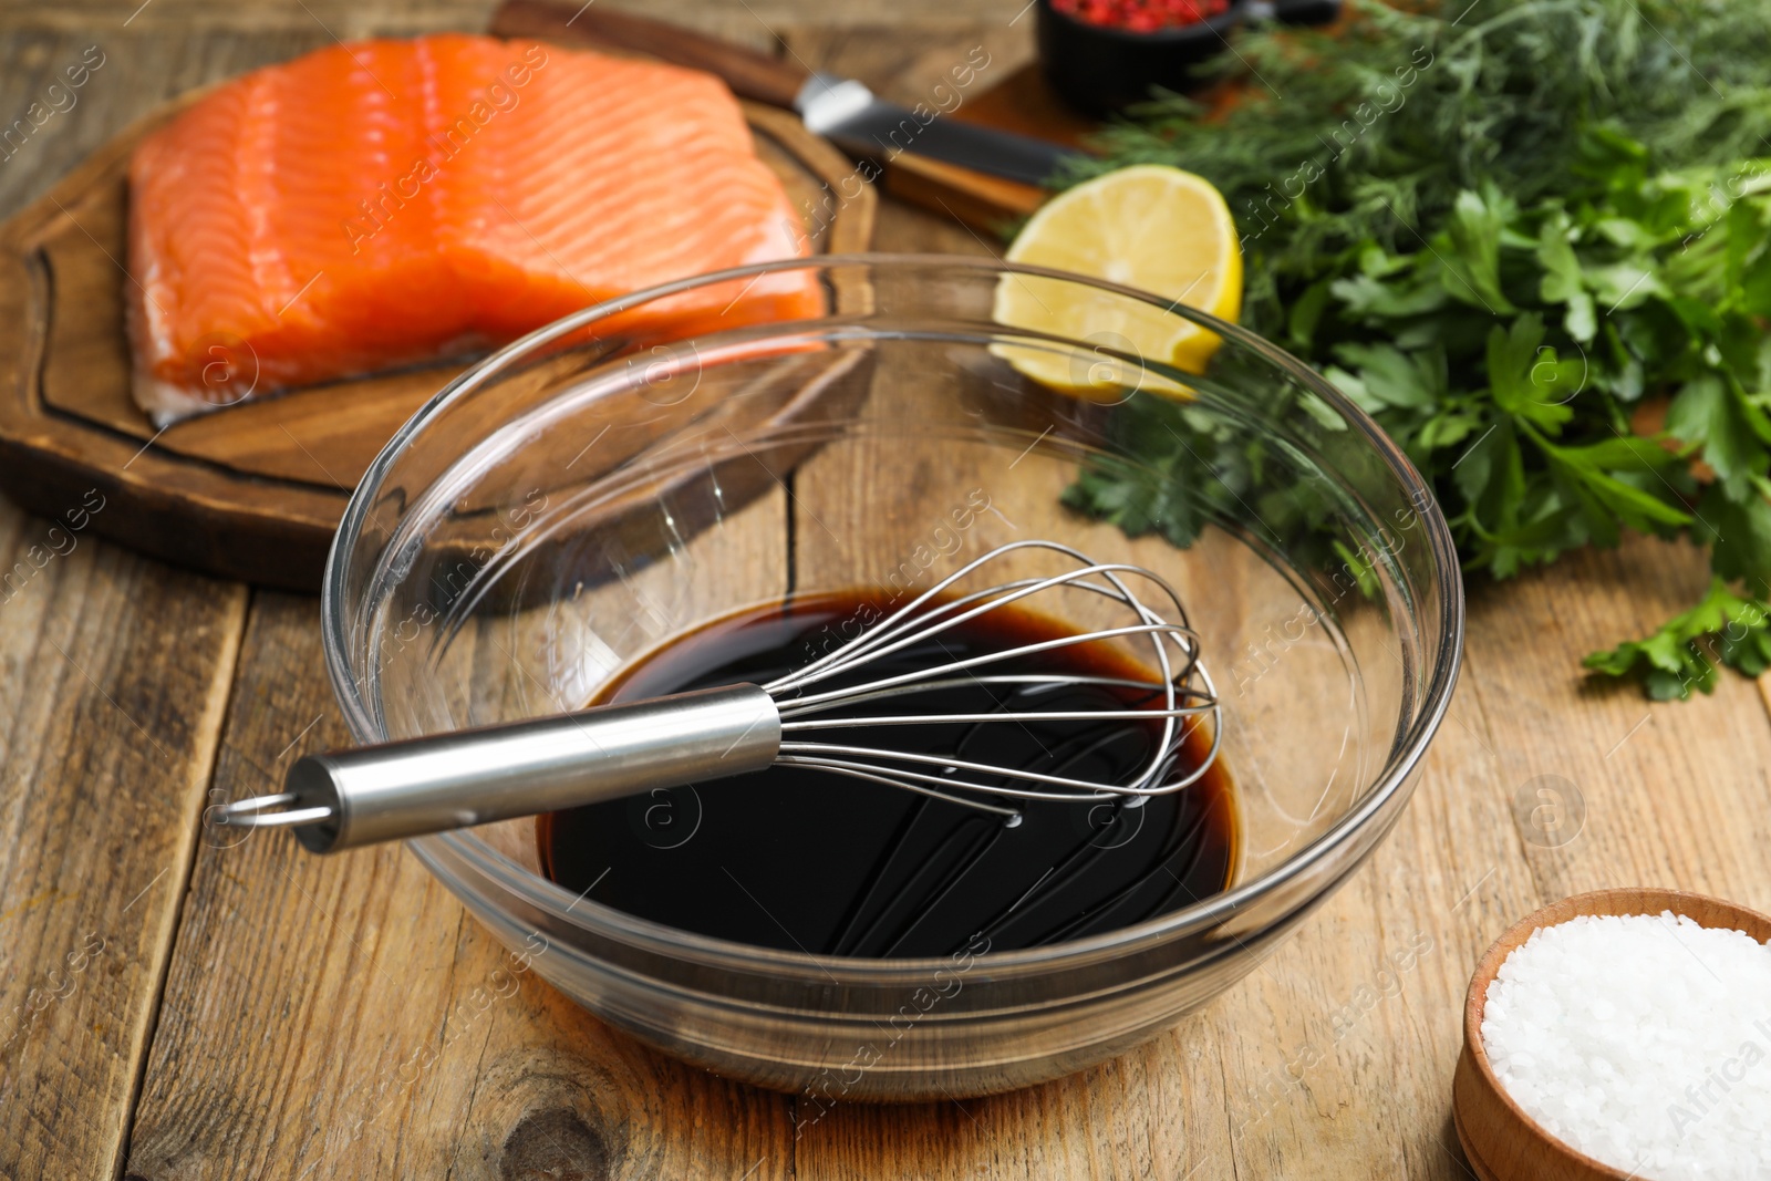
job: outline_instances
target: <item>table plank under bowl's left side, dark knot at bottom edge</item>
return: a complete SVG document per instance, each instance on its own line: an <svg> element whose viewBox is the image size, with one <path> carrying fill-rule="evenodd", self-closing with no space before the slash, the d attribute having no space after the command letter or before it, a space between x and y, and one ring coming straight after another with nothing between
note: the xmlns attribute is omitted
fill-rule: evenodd
<svg viewBox="0 0 1771 1181"><path fill-rule="evenodd" d="M698 618L698 595L781 595L783 521L776 490L692 542L705 561L689 586L655 567L639 579L659 593L613 584L611 606L639 595ZM271 790L299 754L349 740L313 618L310 598L255 598L218 800ZM508 666L522 650L485 655ZM519 692L531 678L482 676L505 680ZM128 1176L762 1181L792 1176L790 1137L785 1096L611 1032L402 848L321 859L260 832L198 850Z"/></svg>

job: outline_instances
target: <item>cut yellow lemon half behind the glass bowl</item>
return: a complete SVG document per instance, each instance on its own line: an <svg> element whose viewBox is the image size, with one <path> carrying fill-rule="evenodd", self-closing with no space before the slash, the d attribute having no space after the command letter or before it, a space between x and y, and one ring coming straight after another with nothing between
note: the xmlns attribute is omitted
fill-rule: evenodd
<svg viewBox="0 0 1771 1181"><path fill-rule="evenodd" d="M1008 248L1009 262L1075 271L1234 322L1241 313L1241 246L1224 195L1164 165L1135 165L1052 198ZM997 324L1087 342L1093 356L1054 345L994 345L1018 372L1091 400L1144 388L1188 390L1116 354L1203 374L1222 338L1162 306L1031 274L1004 274Z"/></svg>

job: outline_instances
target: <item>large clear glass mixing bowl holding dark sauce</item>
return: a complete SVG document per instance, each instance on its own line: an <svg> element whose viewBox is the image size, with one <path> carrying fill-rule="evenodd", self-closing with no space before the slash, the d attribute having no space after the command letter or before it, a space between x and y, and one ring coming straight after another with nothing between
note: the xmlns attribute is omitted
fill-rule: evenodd
<svg viewBox="0 0 1771 1181"><path fill-rule="evenodd" d="M1011 283L1103 328L1002 324ZM740 294L774 319L737 322ZM1132 347L1179 320L1222 338L1206 374ZM1226 892L1020 951L848 958L576 896L540 876L533 820L411 843L512 970L800 1092L800 1119L1006 1091L1121 1054L1252 970L1396 823L1450 699L1445 521L1401 450L1286 352L983 259L779 262L606 303L475 367L379 455L326 572L328 669L365 744L553 714L739 607L926 590L1034 536L1185 597L1236 783ZM696 816L630 814L692 843Z"/></svg>

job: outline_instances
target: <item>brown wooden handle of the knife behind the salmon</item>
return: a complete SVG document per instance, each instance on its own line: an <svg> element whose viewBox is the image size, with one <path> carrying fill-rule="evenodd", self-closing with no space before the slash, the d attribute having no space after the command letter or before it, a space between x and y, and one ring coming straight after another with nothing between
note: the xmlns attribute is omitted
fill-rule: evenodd
<svg viewBox="0 0 1771 1181"><path fill-rule="evenodd" d="M551 4L549 0L505 0L492 14L496 37L547 37L632 50L675 66L705 69L724 80L739 97L793 108L809 71L719 37L708 37L680 25L615 12L586 4Z"/></svg>

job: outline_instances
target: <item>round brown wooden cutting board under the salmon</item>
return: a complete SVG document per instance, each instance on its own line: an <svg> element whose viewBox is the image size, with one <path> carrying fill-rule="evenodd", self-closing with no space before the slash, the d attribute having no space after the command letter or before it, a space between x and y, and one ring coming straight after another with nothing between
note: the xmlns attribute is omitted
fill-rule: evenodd
<svg viewBox="0 0 1771 1181"><path fill-rule="evenodd" d="M133 124L0 227L0 489L64 529L78 522L207 574L317 590L351 489L462 365L298 390L156 430L129 397L128 166L191 97ZM852 172L793 115L760 103L744 113L795 209L818 207L822 188ZM873 211L864 189L834 216L808 218L813 250L866 250Z"/></svg>

